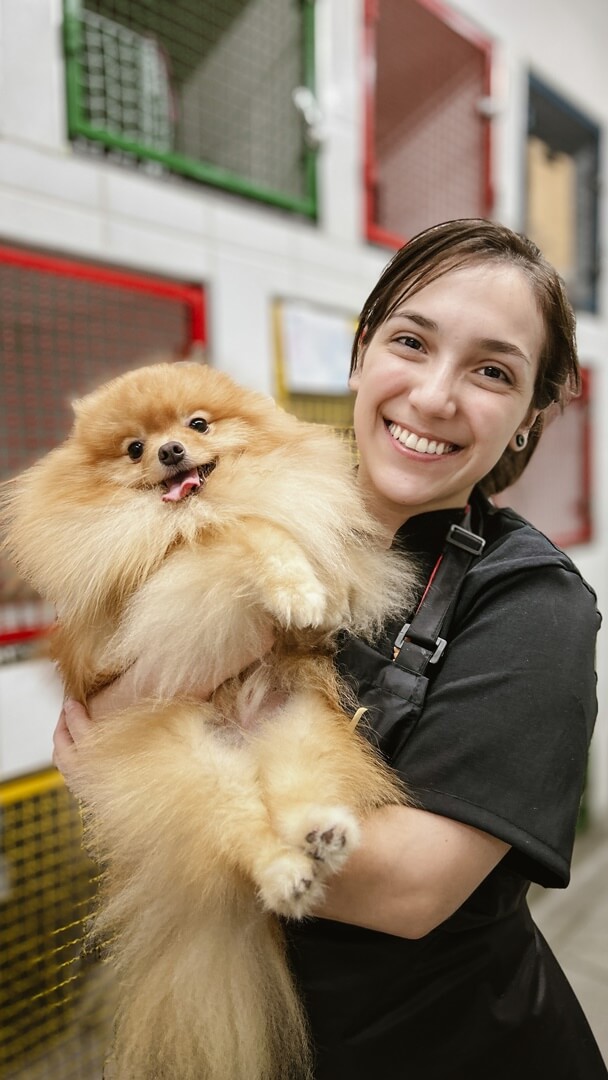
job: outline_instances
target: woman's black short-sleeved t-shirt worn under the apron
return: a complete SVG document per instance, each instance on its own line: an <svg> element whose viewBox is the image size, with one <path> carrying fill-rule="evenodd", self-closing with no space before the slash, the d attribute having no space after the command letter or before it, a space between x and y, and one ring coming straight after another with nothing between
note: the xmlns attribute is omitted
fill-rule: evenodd
<svg viewBox="0 0 608 1080"><path fill-rule="evenodd" d="M392 764L424 809L511 843L509 864L530 880L565 886L597 712L596 599L541 532L484 509L486 548Z"/></svg>

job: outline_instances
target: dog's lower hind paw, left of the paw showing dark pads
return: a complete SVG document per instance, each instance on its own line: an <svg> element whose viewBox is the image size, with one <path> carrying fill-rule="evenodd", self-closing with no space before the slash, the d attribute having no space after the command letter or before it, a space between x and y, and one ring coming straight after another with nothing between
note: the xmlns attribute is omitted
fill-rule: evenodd
<svg viewBox="0 0 608 1080"><path fill-rule="evenodd" d="M316 866L300 851L287 851L256 874L258 895L268 912L301 919L323 897Z"/></svg>

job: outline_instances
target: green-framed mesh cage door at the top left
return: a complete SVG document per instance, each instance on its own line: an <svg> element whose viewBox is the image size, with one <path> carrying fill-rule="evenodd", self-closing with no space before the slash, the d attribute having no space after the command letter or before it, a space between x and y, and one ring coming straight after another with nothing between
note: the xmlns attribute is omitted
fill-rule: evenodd
<svg viewBox="0 0 608 1080"><path fill-rule="evenodd" d="M66 0L70 133L314 212L310 0ZM71 22L70 22L71 19Z"/></svg>

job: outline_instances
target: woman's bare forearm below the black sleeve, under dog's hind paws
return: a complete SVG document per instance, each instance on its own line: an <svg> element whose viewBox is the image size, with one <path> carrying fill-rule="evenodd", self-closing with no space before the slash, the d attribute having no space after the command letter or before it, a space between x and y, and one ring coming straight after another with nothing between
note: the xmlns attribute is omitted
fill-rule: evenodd
<svg viewBox="0 0 608 1080"><path fill-rule="evenodd" d="M365 823L360 848L329 881L316 915L423 937L456 912L509 845L450 818L383 807Z"/></svg>

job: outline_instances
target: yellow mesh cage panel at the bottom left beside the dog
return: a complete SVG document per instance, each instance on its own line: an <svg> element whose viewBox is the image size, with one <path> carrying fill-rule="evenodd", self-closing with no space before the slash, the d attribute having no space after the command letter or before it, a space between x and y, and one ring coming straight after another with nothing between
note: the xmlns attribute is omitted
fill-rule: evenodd
<svg viewBox="0 0 608 1080"><path fill-rule="evenodd" d="M0 1076L100 1080L110 995L82 950L95 874L78 808L49 770L0 784Z"/></svg>

